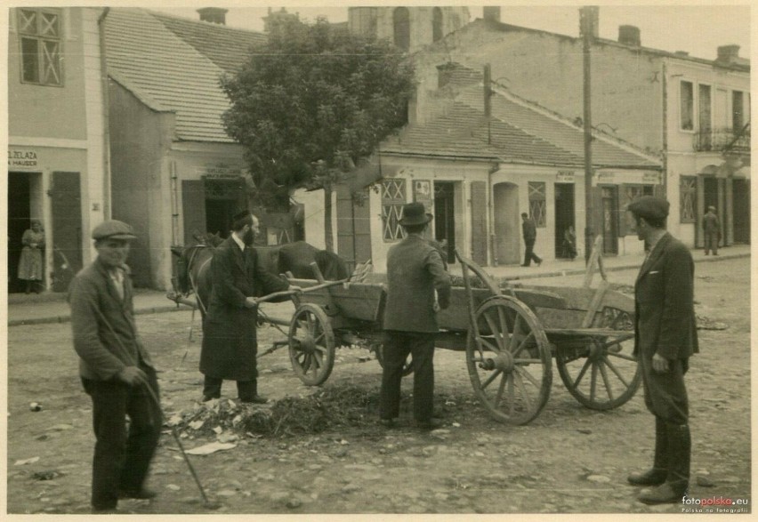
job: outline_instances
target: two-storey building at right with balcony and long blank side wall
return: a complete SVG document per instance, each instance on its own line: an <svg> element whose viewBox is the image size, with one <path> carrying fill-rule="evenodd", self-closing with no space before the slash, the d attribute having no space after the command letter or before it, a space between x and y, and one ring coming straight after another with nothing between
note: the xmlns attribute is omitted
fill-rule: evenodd
<svg viewBox="0 0 758 522"><path fill-rule="evenodd" d="M665 196L672 204L667 225L673 234L702 245L702 215L707 205L715 205L725 244L748 242L749 61L739 58L734 45L714 50L715 60L650 49L641 45L633 26L621 26L617 41L599 38L598 12L594 16L588 26L593 30L593 125L662 158ZM427 117L427 93L433 92L434 69L443 60L472 68L490 64L492 77L511 92L581 124L581 38L513 26L500 20L499 9L490 8L483 20L416 53L417 118Z"/></svg>

